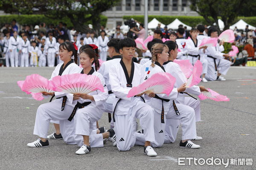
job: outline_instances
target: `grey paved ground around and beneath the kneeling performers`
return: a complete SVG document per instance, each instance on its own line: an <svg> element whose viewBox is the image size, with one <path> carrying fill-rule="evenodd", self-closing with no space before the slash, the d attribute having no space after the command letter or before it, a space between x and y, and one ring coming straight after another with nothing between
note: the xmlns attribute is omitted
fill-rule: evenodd
<svg viewBox="0 0 256 170"><path fill-rule="evenodd" d="M88 155L76 155L79 147L67 145L63 141L49 141L47 148L29 148L28 142L37 139L33 128L35 113L41 102L31 99L20 91L18 80L27 75L41 74L49 78L52 68L0 68L0 169L164 169L184 170L220 170L220 169L256 169L256 68L230 68L226 82L201 83L220 94L227 95L230 102L201 102L203 122L197 123L198 136L203 140L195 142L200 149L178 147L181 130L177 141L156 148L159 157L148 157L143 154L143 147L135 146L128 152L119 152L112 143L104 148L93 148ZM104 114L100 126L108 125L108 116ZM50 125L49 133L53 132ZM220 158L253 159L253 166L229 165L178 165L177 159Z"/></svg>

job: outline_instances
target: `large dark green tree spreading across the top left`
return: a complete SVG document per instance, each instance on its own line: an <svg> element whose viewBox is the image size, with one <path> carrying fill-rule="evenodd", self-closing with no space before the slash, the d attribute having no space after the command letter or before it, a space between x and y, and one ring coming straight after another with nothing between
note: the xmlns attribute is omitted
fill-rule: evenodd
<svg viewBox="0 0 256 170"><path fill-rule="evenodd" d="M120 0L1 0L0 10L11 14L44 14L50 18L70 18L76 30L85 32L89 20L99 31L100 14Z"/></svg>

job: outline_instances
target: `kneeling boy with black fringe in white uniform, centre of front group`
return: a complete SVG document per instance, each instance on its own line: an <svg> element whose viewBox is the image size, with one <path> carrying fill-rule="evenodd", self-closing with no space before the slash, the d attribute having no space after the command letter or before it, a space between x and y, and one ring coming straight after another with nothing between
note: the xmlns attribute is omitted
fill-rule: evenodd
<svg viewBox="0 0 256 170"><path fill-rule="evenodd" d="M113 102L113 121L116 133L117 148L120 151L130 150L136 142L136 119L144 130L144 153L157 156L150 146L154 141L154 111L143 102L140 97L127 98L127 94L134 86L140 85L142 80L141 65L132 62L136 42L131 38L119 41L119 51L122 59L109 71L109 82L116 99Z"/></svg>

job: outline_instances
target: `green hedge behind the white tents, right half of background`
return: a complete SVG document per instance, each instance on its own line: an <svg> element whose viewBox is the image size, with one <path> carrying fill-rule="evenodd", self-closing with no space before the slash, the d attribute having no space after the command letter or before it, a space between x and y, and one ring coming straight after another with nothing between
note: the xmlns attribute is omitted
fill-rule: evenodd
<svg viewBox="0 0 256 170"><path fill-rule="evenodd" d="M133 18L134 20L137 20L141 23L144 23L144 16L143 15L131 15L131 16L123 16L124 20L129 20ZM153 20L153 18L156 18L159 22L168 25L169 23L172 23L176 18L183 22L184 24L188 26L195 27L198 24L207 24L207 22L204 20L204 17L201 16L159 16L159 15L149 15L148 16L148 22ZM236 20L234 20L234 23L236 23L238 20L244 20L246 23L256 26L256 17L238 17ZM213 19L212 19L213 20Z"/></svg>

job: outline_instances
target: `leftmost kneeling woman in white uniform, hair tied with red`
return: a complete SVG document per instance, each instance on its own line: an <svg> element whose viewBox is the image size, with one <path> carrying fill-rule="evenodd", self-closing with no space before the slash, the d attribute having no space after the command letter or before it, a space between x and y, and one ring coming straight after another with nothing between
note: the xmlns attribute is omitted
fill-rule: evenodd
<svg viewBox="0 0 256 170"><path fill-rule="evenodd" d="M81 68L73 62L71 56L74 55L75 62L77 62L77 51L71 42L64 42L59 47L59 55L63 64L56 66L52 72L52 77L65 74L80 73ZM34 134L39 136L39 139L35 142L28 143L28 147L47 147L49 142L47 140L47 133L49 129L50 120L60 121L61 135L64 142L67 144L76 144L74 140L75 126L74 121L71 122L67 119L70 117L75 104L73 104L73 94L65 94L61 92L55 93L43 93L44 96L55 95L56 99L52 102L42 104L38 107ZM64 106L64 107L62 107ZM58 134L57 134L58 135Z"/></svg>

